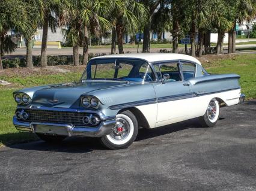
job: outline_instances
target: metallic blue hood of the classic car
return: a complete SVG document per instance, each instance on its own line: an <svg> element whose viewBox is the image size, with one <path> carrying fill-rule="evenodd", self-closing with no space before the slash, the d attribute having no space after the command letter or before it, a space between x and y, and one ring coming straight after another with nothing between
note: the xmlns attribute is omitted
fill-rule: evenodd
<svg viewBox="0 0 256 191"><path fill-rule="evenodd" d="M79 108L80 96L94 91L118 86L127 86L126 81L87 81L83 83L56 84L42 87L32 94L32 105L35 107ZM31 95L31 89L30 91ZM26 93L26 90L23 91Z"/></svg>

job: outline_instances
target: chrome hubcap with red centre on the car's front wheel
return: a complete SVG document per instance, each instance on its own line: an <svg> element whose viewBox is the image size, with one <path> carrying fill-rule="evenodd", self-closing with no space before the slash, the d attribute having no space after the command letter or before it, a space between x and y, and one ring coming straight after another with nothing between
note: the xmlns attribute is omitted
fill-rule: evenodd
<svg viewBox="0 0 256 191"><path fill-rule="evenodd" d="M110 135L115 140L124 140L129 135L129 132L129 123L126 119L119 117L116 119L115 127Z"/></svg>

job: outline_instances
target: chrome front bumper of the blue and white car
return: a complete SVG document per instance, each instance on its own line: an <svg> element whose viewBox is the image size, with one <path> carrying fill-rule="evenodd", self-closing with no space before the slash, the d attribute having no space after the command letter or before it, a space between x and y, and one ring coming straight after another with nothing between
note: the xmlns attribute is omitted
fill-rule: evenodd
<svg viewBox="0 0 256 191"><path fill-rule="evenodd" d="M91 128L87 126L81 127L57 123L19 122L16 116L14 116L13 125L17 130L39 134L66 135L69 137L104 137L105 135L111 134L112 129L115 126L115 119L102 121L99 126Z"/></svg>

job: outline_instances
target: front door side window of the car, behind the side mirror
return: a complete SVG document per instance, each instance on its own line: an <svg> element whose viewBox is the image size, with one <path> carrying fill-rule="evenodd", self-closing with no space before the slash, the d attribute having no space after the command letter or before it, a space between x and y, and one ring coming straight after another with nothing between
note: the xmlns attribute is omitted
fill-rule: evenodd
<svg viewBox="0 0 256 191"><path fill-rule="evenodd" d="M169 80L165 80L166 82L171 81L181 81L180 71L178 69L178 63L170 62L170 63L160 63L160 79L163 78L163 75L168 74Z"/></svg>

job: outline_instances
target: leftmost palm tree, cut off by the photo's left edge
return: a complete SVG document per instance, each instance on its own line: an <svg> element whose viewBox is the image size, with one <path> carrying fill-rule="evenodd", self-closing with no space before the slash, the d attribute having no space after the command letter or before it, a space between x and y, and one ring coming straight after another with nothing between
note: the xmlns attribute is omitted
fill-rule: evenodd
<svg viewBox="0 0 256 191"><path fill-rule="evenodd" d="M7 35L13 30L16 34L32 32L28 22L26 4L19 0L3 0L0 4L0 69L3 69L2 59L5 53L16 50L16 44Z"/></svg>

